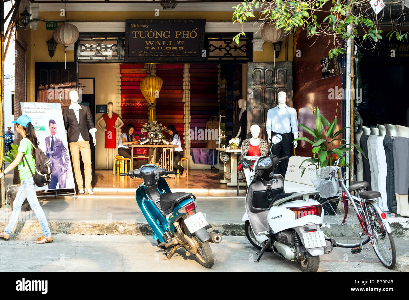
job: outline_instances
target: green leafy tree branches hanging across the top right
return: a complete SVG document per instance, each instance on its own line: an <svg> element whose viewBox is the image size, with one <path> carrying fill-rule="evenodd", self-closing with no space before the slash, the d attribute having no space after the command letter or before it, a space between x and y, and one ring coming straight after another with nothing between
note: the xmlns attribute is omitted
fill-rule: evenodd
<svg viewBox="0 0 409 300"><path fill-rule="evenodd" d="M325 10L328 16L320 23L315 13L324 11L323 6L328 2L332 3L332 6L329 11ZM328 56L332 58L334 55L345 53L344 47L335 37L343 40L359 38L357 28L365 31L363 40L373 40L375 44L382 40L380 35L382 30L379 29L380 21L372 20L374 12L368 7L368 4L369 1L360 0L312 0L308 2L302 0L246 0L233 7L235 9L233 24L243 23L247 21L247 17L257 17L262 22L275 20L277 28L284 29L286 33L294 32L297 28L302 27L306 29L308 36L332 35L335 48L330 49L328 53ZM261 9L261 11L256 12L254 16L254 9ZM328 9L327 6L326 9ZM348 26L350 31L348 31ZM393 30L387 34L389 40L393 34L396 34L396 38L400 41L408 39L408 33L401 34ZM244 31L241 31L233 40L238 44L240 36L243 35Z"/></svg>

